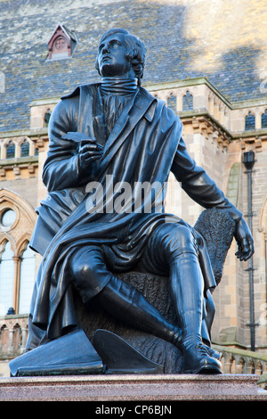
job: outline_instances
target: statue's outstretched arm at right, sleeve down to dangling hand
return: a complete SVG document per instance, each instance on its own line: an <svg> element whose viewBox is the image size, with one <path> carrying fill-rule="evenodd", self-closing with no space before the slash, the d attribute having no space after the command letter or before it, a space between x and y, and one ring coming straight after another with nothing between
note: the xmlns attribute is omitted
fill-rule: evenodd
<svg viewBox="0 0 267 419"><path fill-rule="evenodd" d="M239 209L207 175L206 170L197 166L195 160L190 157L182 138L174 156L172 172L181 183L182 189L199 205L206 209L216 207L228 211L236 221L235 239L239 246L236 255L240 260L249 259L254 253L254 241L247 222Z"/></svg>

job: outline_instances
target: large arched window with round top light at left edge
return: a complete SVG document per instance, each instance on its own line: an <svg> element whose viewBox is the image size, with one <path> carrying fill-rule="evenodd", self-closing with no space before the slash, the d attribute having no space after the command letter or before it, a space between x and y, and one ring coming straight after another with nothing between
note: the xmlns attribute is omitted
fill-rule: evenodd
<svg viewBox="0 0 267 419"><path fill-rule="evenodd" d="M28 201L8 189L0 189L0 201L0 316L11 307L10 314L28 314L37 263L28 242L36 214Z"/></svg>

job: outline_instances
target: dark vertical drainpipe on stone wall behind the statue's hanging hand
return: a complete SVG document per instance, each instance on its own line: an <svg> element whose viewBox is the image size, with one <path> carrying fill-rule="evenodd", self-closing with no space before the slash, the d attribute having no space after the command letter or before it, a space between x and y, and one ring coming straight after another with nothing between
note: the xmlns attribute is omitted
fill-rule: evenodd
<svg viewBox="0 0 267 419"><path fill-rule="evenodd" d="M243 163L247 168L247 225L252 234L252 169L255 164L255 152L244 152ZM248 260L248 275L249 275L249 313L250 323L250 349L255 351L255 308L254 308L254 267L253 257Z"/></svg>

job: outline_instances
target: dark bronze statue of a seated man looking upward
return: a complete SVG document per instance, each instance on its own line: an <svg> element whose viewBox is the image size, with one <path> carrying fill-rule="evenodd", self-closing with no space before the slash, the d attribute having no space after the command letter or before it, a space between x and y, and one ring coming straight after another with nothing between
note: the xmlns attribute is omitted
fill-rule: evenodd
<svg viewBox="0 0 267 419"><path fill-rule="evenodd" d="M164 211L170 172L190 198L235 221L239 259L252 256L253 238L239 210L191 159L179 117L142 88L145 53L126 30L108 30L96 59L101 83L78 86L53 111L43 172L48 195L30 243L43 259L27 350L77 326L75 288L86 304L93 299L110 316L181 349L183 373L216 374L222 365L201 335L214 276L200 234ZM169 278L176 325L119 279L140 261Z"/></svg>

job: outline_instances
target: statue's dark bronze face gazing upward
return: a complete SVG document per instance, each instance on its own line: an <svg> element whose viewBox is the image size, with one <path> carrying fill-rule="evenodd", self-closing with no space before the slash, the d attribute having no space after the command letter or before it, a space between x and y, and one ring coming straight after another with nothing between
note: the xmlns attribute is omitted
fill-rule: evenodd
<svg viewBox="0 0 267 419"><path fill-rule="evenodd" d="M124 34L115 33L99 45L97 59L102 77L135 77L132 64L126 56L124 38Z"/></svg>

